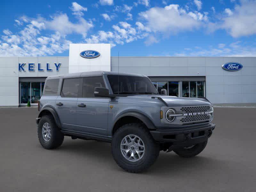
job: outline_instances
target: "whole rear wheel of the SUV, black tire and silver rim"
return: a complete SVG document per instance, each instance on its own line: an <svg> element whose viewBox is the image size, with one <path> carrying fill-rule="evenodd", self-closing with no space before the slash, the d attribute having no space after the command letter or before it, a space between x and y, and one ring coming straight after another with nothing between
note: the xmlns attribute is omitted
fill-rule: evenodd
<svg viewBox="0 0 256 192"><path fill-rule="evenodd" d="M40 144L46 149L57 148L64 140L64 134L60 132L51 115L41 117L37 128L37 135Z"/></svg>

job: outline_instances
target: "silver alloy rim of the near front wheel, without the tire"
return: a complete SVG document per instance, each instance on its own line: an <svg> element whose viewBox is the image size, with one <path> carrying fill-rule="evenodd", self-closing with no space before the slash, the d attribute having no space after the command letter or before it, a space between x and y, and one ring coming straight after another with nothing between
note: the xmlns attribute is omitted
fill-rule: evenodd
<svg viewBox="0 0 256 192"><path fill-rule="evenodd" d="M139 161L145 153L145 145L137 135L126 135L121 141L121 153L128 161Z"/></svg>

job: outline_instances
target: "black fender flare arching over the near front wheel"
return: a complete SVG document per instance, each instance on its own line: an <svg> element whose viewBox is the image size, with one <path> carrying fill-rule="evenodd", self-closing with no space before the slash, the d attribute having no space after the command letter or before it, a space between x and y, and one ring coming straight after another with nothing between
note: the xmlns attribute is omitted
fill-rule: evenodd
<svg viewBox="0 0 256 192"><path fill-rule="evenodd" d="M118 116L118 118L115 120L115 122L113 124L113 127L112 127L112 131L111 131L112 134L113 134L113 129L116 125L116 122L119 119L121 119L122 117L125 117L125 116L136 117L136 118L140 119L148 127L148 129L150 129L150 130L156 129L156 126L153 124L153 122L148 117L146 117L145 115L143 115L141 113L138 113L138 112L126 112L126 113L122 114L121 116Z"/></svg>

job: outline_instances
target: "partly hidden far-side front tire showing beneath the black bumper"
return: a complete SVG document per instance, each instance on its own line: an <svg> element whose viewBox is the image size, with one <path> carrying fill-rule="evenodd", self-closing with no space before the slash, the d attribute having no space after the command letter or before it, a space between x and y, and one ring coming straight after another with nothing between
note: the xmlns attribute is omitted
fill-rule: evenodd
<svg viewBox="0 0 256 192"><path fill-rule="evenodd" d="M204 141L203 143L196 144L192 148L179 148L173 151L181 157L186 157L186 158L194 157L204 150L204 148L206 147L206 144L207 144L207 140Z"/></svg>

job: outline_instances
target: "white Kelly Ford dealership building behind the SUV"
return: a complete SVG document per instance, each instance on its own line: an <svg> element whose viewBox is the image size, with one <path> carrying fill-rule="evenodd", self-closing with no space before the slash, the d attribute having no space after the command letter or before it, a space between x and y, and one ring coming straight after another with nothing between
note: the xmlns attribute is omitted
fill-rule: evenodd
<svg viewBox="0 0 256 192"><path fill-rule="evenodd" d="M171 96L256 103L256 57L111 57L110 51L110 44L70 44L67 57L0 57L0 106L36 105L48 76L98 70L147 75Z"/></svg>

